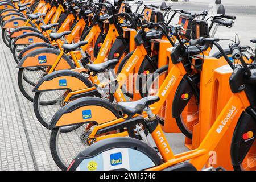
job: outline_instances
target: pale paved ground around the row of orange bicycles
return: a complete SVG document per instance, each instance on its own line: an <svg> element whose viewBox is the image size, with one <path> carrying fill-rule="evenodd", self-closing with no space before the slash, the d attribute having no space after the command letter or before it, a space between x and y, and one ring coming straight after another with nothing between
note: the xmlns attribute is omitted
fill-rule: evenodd
<svg viewBox="0 0 256 182"><path fill-rule="evenodd" d="M240 34L243 44L250 44L250 39L256 38L256 13L251 5L250 15L240 11L243 7L236 4L237 20L232 29L220 28L216 36L233 38L234 32ZM144 1L160 4L160 1ZM231 2L231 1L229 1ZM173 3L175 8L194 9L199 3L181 2ZM204 10L207 3L201 4ZM231 5L227 7L231 8ZM235 9L235 7L233 7ZM250 9L248 8L248 10ZM229 8L227 9L228 12ZM234 10L235 11L235 10ZM249 12L249 11L248 11ZM235 13L235 12L234 12ZM1 32L0 32L1 33ZM222 42L227 45L227 42ZM16 64L9 51L0 38L0 170L57 170L49 151L50 132L37 121L32 103L27 101L19 91L17 84ZM175 152L187 150L182 134L168 134Z"/></svg>

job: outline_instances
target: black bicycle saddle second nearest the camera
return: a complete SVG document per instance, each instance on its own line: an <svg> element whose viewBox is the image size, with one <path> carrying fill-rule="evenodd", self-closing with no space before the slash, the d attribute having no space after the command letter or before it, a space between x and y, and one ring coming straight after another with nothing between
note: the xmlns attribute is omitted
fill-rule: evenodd
<svg viewBox="0 0 256 182"><path fill-rule="evenodd" d="M106 69L111 68L113 65L116 65L119 62L118 59L112 59L105 61L103 63L98 64L87 64L85 66L85 69L87 69L90 72L94 72L94 75L100 72L105 72Z"/></svg>

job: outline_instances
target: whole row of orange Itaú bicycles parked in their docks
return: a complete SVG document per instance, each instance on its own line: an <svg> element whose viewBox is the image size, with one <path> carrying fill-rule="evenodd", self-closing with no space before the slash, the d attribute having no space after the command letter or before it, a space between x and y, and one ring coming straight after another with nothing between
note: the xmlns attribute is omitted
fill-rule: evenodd
<svg viewBox="0 0 256 182"><path fill-rule="evenodd" d="M238 35L228 49L214 37L236 17L158 9L137 0L0 2L20 91L51 130L57 166L255 170L255 51ZM191 150L172 152L163 131L175 127Z"/></svg>

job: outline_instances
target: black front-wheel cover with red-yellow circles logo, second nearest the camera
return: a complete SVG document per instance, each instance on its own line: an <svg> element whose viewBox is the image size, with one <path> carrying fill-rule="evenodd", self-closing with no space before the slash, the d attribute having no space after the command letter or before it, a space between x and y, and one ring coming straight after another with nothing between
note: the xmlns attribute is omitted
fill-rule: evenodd
<svg viewBox="0 0 256 182"><path fill-rule="evenodd" d="M195 94L192 85L184 77L176 90L174 100L172 101L172 117L177 118L180 116L185 106L187 106L191 97Z"/></svg>

